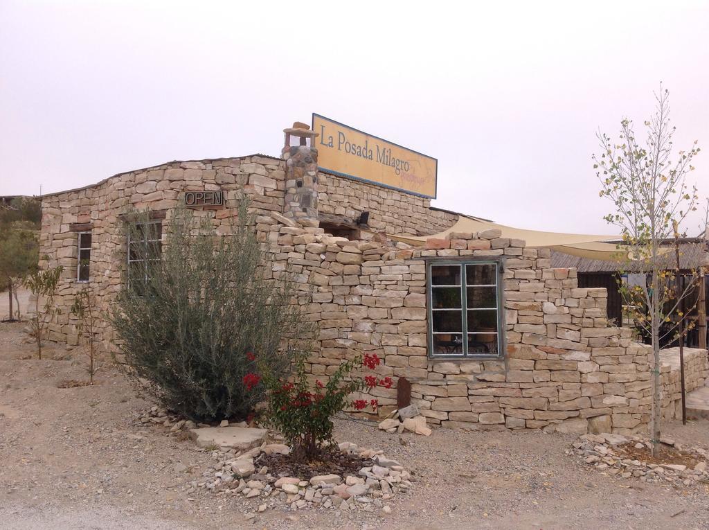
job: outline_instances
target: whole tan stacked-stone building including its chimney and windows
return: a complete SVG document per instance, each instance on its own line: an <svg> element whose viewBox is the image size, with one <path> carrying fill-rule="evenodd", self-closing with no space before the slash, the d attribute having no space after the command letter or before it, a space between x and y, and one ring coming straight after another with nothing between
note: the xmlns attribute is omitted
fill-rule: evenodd
<svg viewBox="0 0 709 530"><path fill-rule="evenodd" d="M286 129L281 158L168 162L45 195L41 255L65 267L50 338L77 342L68 309L85 282L110 306L130 261L128 211L149 212L145 243L162 238L179 200L227 233L247 195L272 253L269 273L295 272L298 302L318 322L313 377L376 353L379 375L405 377L430 424L619 433L647 425L652 355L608 326L605 289L579 288L575 269L552 268L549 248L497 228L452 231L474 218L319 170L308 133ZM108 346L105 322L101 333ZM664 411L674 416L676 372L662 370ZM703 385L705 350L686 351L686 374L688 390ZM396 407L396 392L372 391L379 414Z"/></svg>

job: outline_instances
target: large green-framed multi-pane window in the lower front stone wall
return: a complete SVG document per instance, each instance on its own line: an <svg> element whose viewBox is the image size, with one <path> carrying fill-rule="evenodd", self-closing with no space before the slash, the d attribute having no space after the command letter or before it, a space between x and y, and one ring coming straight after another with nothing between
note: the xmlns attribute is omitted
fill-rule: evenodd
<svg viewBox="0 0 709 530"><path fill-rule="evenodd" d="M502 263L428 263L428 350L432 357L499 357L503 351Z"/></svg>

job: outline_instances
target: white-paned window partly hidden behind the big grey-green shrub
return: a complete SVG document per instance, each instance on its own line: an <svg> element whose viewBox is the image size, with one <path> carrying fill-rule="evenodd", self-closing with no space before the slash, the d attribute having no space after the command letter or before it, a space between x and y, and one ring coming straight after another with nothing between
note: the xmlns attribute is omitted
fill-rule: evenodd
<svg viewBox="0 0 709 530"><path fill-rule="evenodd" d="M142 290L162 256L162 222L133 223L128 228L128 283Z"/></svg>

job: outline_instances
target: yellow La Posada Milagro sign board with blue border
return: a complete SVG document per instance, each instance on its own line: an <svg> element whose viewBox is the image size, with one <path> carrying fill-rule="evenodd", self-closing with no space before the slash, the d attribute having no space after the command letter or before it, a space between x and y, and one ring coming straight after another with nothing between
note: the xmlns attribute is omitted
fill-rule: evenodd
<svg viewBox="0 0 709 530"><path fill-rule="evenodd" d="M321 170L403 192L436 197L438 161L313 113Z"/></svg>

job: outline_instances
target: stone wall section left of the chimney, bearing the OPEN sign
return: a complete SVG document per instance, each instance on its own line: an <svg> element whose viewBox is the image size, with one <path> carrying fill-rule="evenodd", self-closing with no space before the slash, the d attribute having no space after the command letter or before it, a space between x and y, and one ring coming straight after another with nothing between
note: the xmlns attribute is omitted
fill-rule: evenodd
<svg viewBox="0 0 709 530"><path fill-rule="evenodd" d="M182 192L221 189L225 192L225 208L201 214L213 219L218 233L227 233L242 194L248 194L256 213L283 211L284 177L282 160L259 156L169 162L116 175L95 186L43 197L40 256L48 259L42 264L64 267L55 299L61 314L50 323L49 338L77 342L70 308L74 294L85 287L77 282L77 231L91 231L89 286L105 312L120 289L127 260L123 214L162 211L169 217ZM265 241L265 234L259 236ZM101 338L104 343L113 338L106 321L101 321Z"/></svg>

